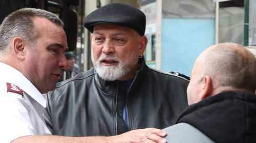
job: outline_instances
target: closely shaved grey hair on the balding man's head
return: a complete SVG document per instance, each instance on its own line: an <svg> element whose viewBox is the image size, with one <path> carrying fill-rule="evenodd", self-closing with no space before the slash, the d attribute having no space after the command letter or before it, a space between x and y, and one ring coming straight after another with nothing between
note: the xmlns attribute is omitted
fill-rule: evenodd
<svg viewBox="0 0 256 143"><path fill-rule="evenodd" d="M232 87L254 93L256 88L256 60L244 46L222 43L205 55L204 74L214 78L218 87Z"/></svg>

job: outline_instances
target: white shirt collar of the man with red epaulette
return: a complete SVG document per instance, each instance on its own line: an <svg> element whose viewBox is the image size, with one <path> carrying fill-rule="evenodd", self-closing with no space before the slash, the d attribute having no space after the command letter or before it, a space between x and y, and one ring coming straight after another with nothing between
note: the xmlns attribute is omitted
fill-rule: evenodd
<svg viewBox="0 0 256 143"><path fill-rule="evenodd" d="M0 62L1 75L0 79L5 82L12 83L26 92L36 102L46 107L46 99L36 89L36 87L18 70L15 68Z"/></svg>

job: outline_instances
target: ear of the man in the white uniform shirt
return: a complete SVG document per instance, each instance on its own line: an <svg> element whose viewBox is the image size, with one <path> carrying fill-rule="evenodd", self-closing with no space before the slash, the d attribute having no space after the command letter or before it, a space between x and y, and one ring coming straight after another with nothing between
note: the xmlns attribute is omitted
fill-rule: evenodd
<svg viewBox="0 0 256 143"><path fill-rule="evenodd" d="M19 60L25 59L25 54L26 54L25 45L26 45L25 41L20 37L15 37L12 40L12 47L13 47L14 54Z"/></svg>

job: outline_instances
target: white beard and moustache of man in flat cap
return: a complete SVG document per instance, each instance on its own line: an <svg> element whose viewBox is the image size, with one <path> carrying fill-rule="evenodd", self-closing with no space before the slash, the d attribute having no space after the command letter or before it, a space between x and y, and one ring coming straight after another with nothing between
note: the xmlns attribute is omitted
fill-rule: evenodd
<svg viewBox="0 0 256 143"><path fill-rule="evenodd" d="M134 67L138 61L135 61L134 59L134 53L132 53L132 56L129 61L122 62L120 59L116 56L112 55L106 55L106 54L101 54L99 59L95 62L93 53L92 53L92 62L93 66L99 75L104 80L107 81L114 81L117 80L123 76L125 76L127 73L129 73L132 70L132 67ZM103 66L101 65L100 61L109 58L114 61L118 62L118 65L116 66Z"/></svg>

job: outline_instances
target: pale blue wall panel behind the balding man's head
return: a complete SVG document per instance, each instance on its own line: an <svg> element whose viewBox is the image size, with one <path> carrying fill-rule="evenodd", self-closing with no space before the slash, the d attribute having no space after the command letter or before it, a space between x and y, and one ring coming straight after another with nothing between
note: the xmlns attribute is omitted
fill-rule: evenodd
<svg viewBox="0 0 256 143"><path fill-rule="evenodd" d="M163 18L161 70L190 76L197 56L214 43L214 19Z"/></svg>

